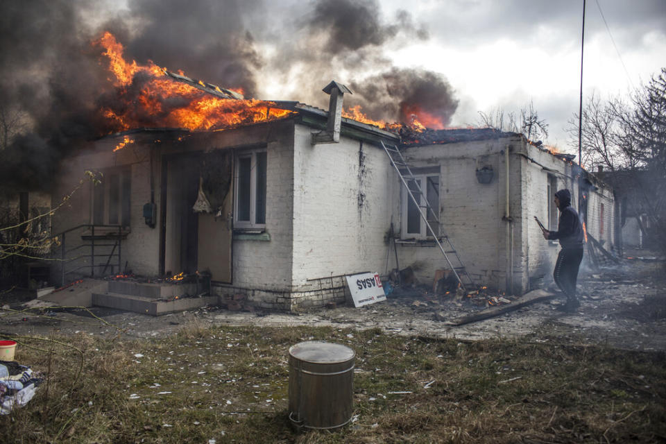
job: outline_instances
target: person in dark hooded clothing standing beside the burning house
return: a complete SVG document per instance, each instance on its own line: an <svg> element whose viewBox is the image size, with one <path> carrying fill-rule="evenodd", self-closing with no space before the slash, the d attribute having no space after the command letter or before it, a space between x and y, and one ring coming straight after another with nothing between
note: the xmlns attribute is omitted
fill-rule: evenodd
<svg viewBox="0 0 666 444"><path fill-rule="evenodd" d="M578 270L583 260L583 227L581 219L571 206L571 193L561 189L555 193L555 205L560 210L557 231L543 229L544 239L559 239L562 249L557 255L553 278L567 297L563 311L575 311L581 304L576 296Z"/></svg>

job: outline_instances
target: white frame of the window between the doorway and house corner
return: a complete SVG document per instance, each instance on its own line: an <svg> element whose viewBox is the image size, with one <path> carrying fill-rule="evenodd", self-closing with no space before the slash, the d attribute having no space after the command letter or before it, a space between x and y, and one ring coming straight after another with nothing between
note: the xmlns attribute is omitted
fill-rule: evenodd
<svg viewBox="0 0 666 444"><path fill-rule="evenodd" d="M264 154L266 157L264 171L264 223L257 223L257 155ZM239 220L239 194L240 194L240 176L241 176L241 160L250 159L250 196L249 196L249 220ZM234 159L234 229L237 230L266 230L266 194L268 191L266 178L268 176L268 150L266 148L255 148L251 150L239 151Z"/></svg>

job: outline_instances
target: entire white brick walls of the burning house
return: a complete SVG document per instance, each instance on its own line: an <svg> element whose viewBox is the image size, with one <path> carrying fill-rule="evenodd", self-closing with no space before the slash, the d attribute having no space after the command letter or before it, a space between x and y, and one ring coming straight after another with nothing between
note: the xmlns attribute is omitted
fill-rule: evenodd
<svg viewBox="0 0 666 444"><path fill-rule="evenodd" d="M187 149L234 148L265 145L267 151L266 232L270 241L234 240L232 284L216 284L219 295L246 293L260 307L293 309L342 302L339 276L386 270L391 222L401 228L402 185L386 153L379 146L341 137L339 144L311 144L312 129L293 121L266 123L191 137L191 145L153 147L155 202L160 204L160 156ZM150 199L149 149L135 144L112 153L113 140L99 142L95 153L68 160L53 192L74 188L85 169L131 165L132 232L123 241L123 258L137 274L156 275L159 228L145 225L142 207ZM557 188L568 187L577 205L572 166L550 153L504 137L479 142L428 145L404 151L413 167L441 171L441 230L450 236L472 279L479 285L506 289L506 164L509 155L510 213L513 219L513 287L515 293L549 282L558 247L541 237L533 216L547 221L548 171L558 171ZM160 151L161 150L161 151ZM529 157L531 160L528 160ZM477 181L476 169L493 168L490 184ZM612 241L613 200L607 189L590 198L590 227L598 229L598 204L604 202L604 236ZM80 190L54 221L54 232L90 221L91 187ZM158 208L157 214L160 214ZM598 219L598 218L597 218ZM596 224L596 225L595 225ZM79 237L80 241L80 237ZM205 246L200 242L200 248ZM448 268L436 246L398 246L400 268L413 266L423 284L432 284L434 271ZM388 268L395 267L393 252ZM543 278L543 279L542 279Z"/></svg>

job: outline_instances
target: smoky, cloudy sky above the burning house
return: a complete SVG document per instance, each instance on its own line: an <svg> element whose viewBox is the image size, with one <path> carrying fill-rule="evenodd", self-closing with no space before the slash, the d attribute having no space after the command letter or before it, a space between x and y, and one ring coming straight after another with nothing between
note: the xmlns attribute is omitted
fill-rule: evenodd
<svg viewBox="0 0 666 444"><path fill-rule="evenodd" d="M108 30L130 59L259 99L326 108L334 79L375 119L404 121L418 104L447 126L477 126L479 112L531 101L545 142L575 152L565 127L582 14L582 0L3 1L0 101L62 146L86 133L106 81L90 43ZM666 67L665 0L588 0L585 31L586 97L627 94Z"/></svg>

